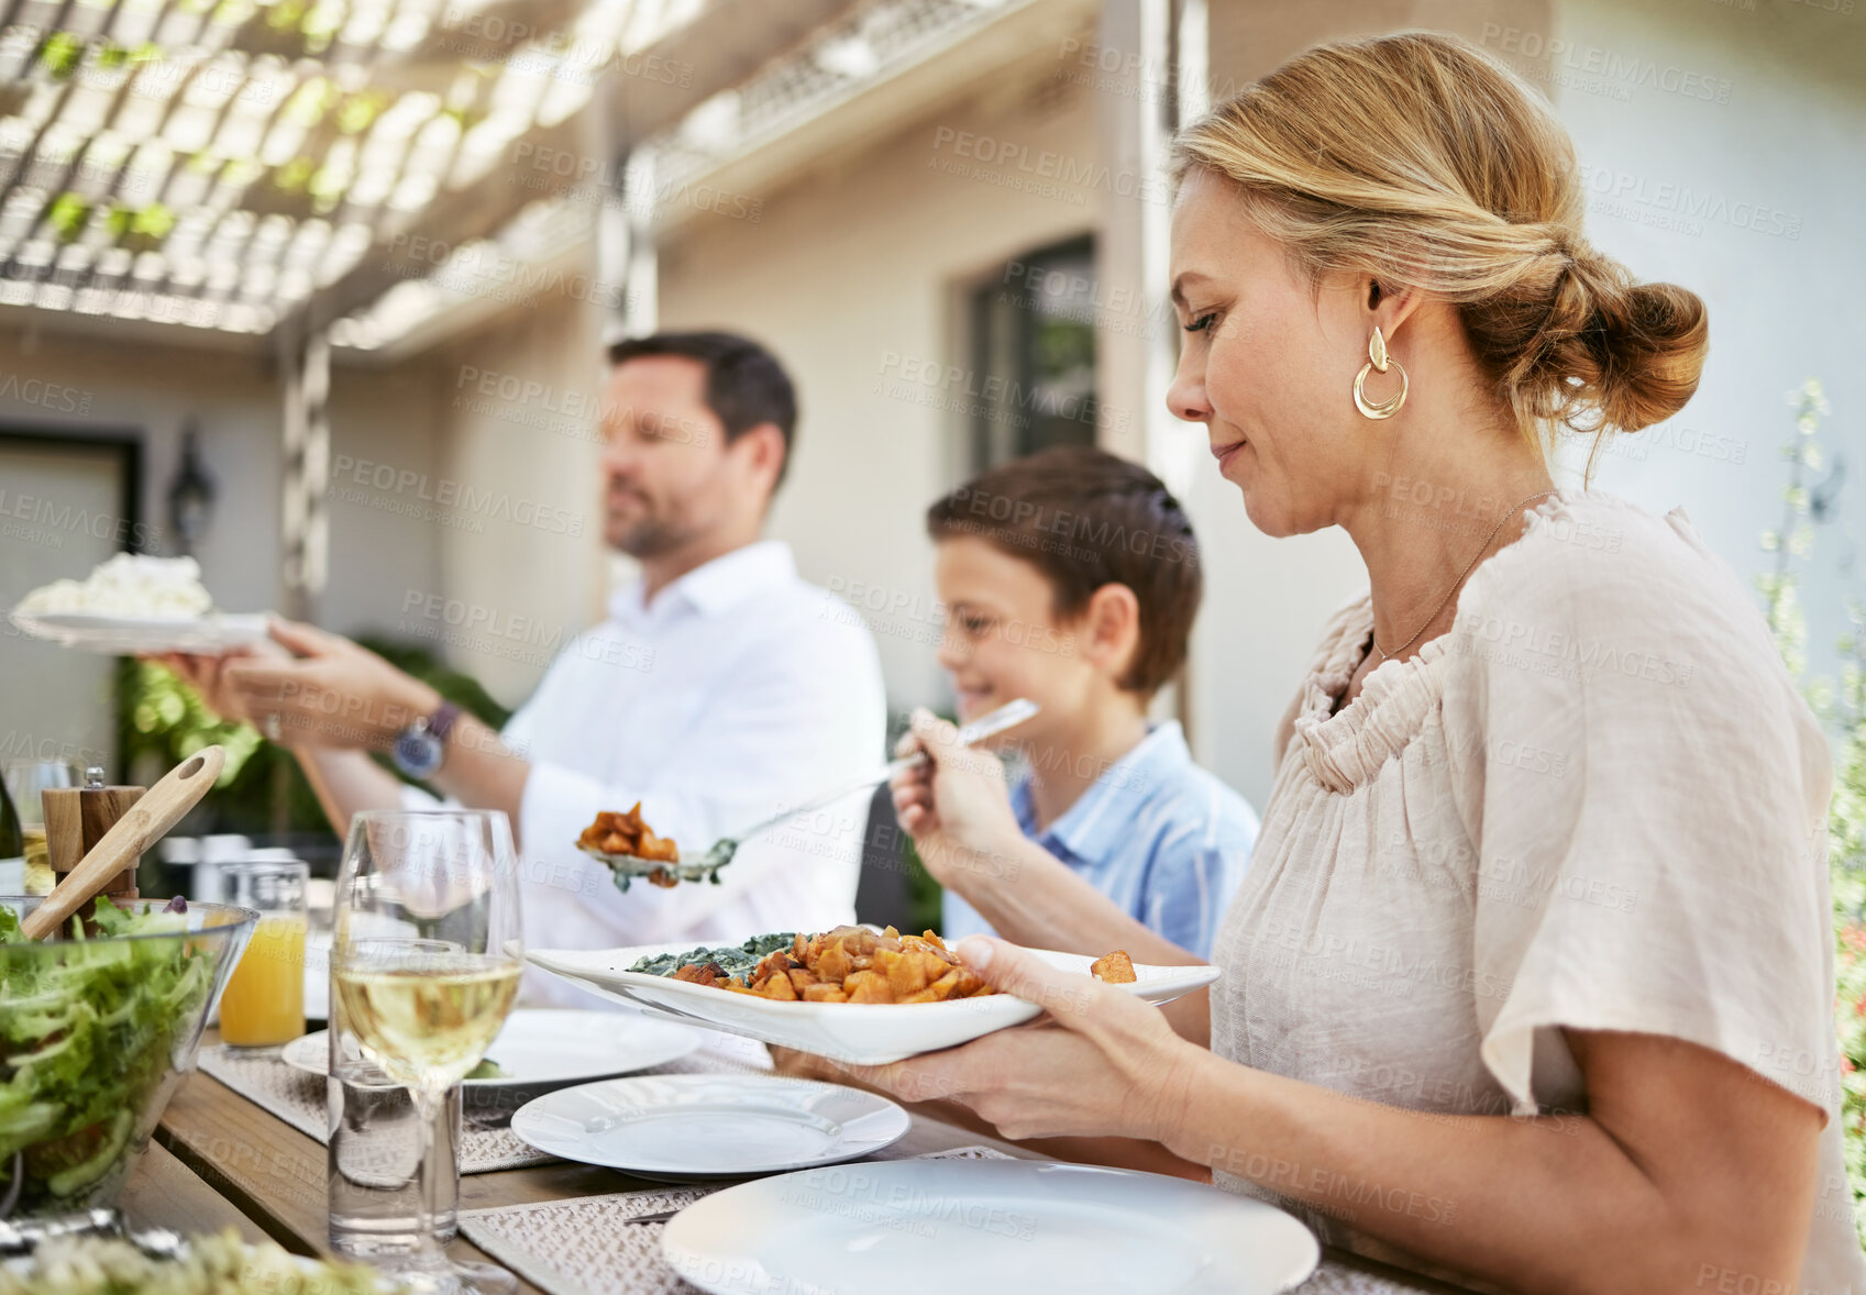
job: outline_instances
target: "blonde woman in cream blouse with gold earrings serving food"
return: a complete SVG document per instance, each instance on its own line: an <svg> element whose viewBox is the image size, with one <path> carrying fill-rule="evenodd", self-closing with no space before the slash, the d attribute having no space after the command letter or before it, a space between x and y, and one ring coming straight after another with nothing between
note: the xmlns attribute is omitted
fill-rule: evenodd
<svg viewBox="0 0 1866 1295"><path fill-rule="evenodd" d="M1588 246L1562 127L1452 37L1312 49L1177 159L1172 412L1261 530L1345 528L1372 588L1276 735L1209 1051L1196 1004L968 940L1052 1023L866 1077L1161 1142L1491 1288L1866 1291L1827 746L1685 515L1554 491L1541 446L1678 412L1704 304ZM922 720L937 769L896 786L924 851L1021 862L968 873L1006 935L1118 937L948 737Z"/></svg>

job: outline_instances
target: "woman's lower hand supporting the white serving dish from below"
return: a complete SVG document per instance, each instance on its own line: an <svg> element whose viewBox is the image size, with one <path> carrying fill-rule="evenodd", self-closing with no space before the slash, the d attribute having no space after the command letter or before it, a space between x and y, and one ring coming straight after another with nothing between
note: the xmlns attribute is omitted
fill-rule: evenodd
<svg viewBox="0 0 1866 1295"><path fill-rule="evenodd" d="M1049 1015L944 1052L843 1071L901 1101L957 1101L1006 1138L1177 1135L1192 1073L1209 1054L1174 1034L1159 1008L1004 940L974 935L957 954Z"/></svg>

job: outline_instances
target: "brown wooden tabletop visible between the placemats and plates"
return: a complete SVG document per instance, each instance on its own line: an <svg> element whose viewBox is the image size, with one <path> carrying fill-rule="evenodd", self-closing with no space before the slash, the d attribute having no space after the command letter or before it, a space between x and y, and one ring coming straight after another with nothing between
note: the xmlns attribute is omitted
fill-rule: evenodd
<svg viewBox="0 0 1866 1295"><path fill-rule="evenodd" d="M957 1146L995 1146L1010 1155L1030 1155L1008 1142L968 1129L912 1116L899 1148L909 1155ZM328 1256L330 1235L325 1200L327 1153L315 1138L261 1110L211 1075L190 1075L168 1103L155 1146L136 1168L121 1205L132 1222L177 1232L235 1228L248 1239L269 1235L293 1254ZM489 1209L530 1202L599 1196L655 1189L616 1170L590 1164L549 1163L496 1174L461 1177L461 1209ZM472 1243L450 1246L459 1258L485 1260ZM1467 1295L1457 1288L1401 1273L1372 1260L1329 1250L1347 1267L1405 1282L1413 1289ZM519 1282L530 1295L537 1288ZM539 1293L539 1295L549 1295Z"/></svg>

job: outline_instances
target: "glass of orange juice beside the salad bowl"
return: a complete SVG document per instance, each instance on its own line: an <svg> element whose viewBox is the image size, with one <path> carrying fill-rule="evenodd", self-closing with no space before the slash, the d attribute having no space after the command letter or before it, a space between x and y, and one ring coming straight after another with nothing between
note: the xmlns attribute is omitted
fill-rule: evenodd
<svg viewBox="0 0 1866 1295"><path fill-rule="evenodd" d="M220 995L220 1041L276 1049L304 1034L304 883L297 860L222 864L226 901L258 909L246 954Z"/></svg>

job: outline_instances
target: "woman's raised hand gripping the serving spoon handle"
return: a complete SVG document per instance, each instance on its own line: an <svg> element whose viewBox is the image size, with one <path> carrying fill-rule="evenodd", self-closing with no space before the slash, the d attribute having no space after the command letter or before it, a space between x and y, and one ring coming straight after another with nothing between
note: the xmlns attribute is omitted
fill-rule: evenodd
<svg viewBox="0 0 1866 1295"><path fill-rule="evenodd" d="M1024 834L998 758L961 746L959 730L926 709L914 711L912 728L896 746L899 756L916 750L927 763L894 778L894 814L933 879L965 894L980 877L1015 877L1017 870L1004 862Z"/></svg>

